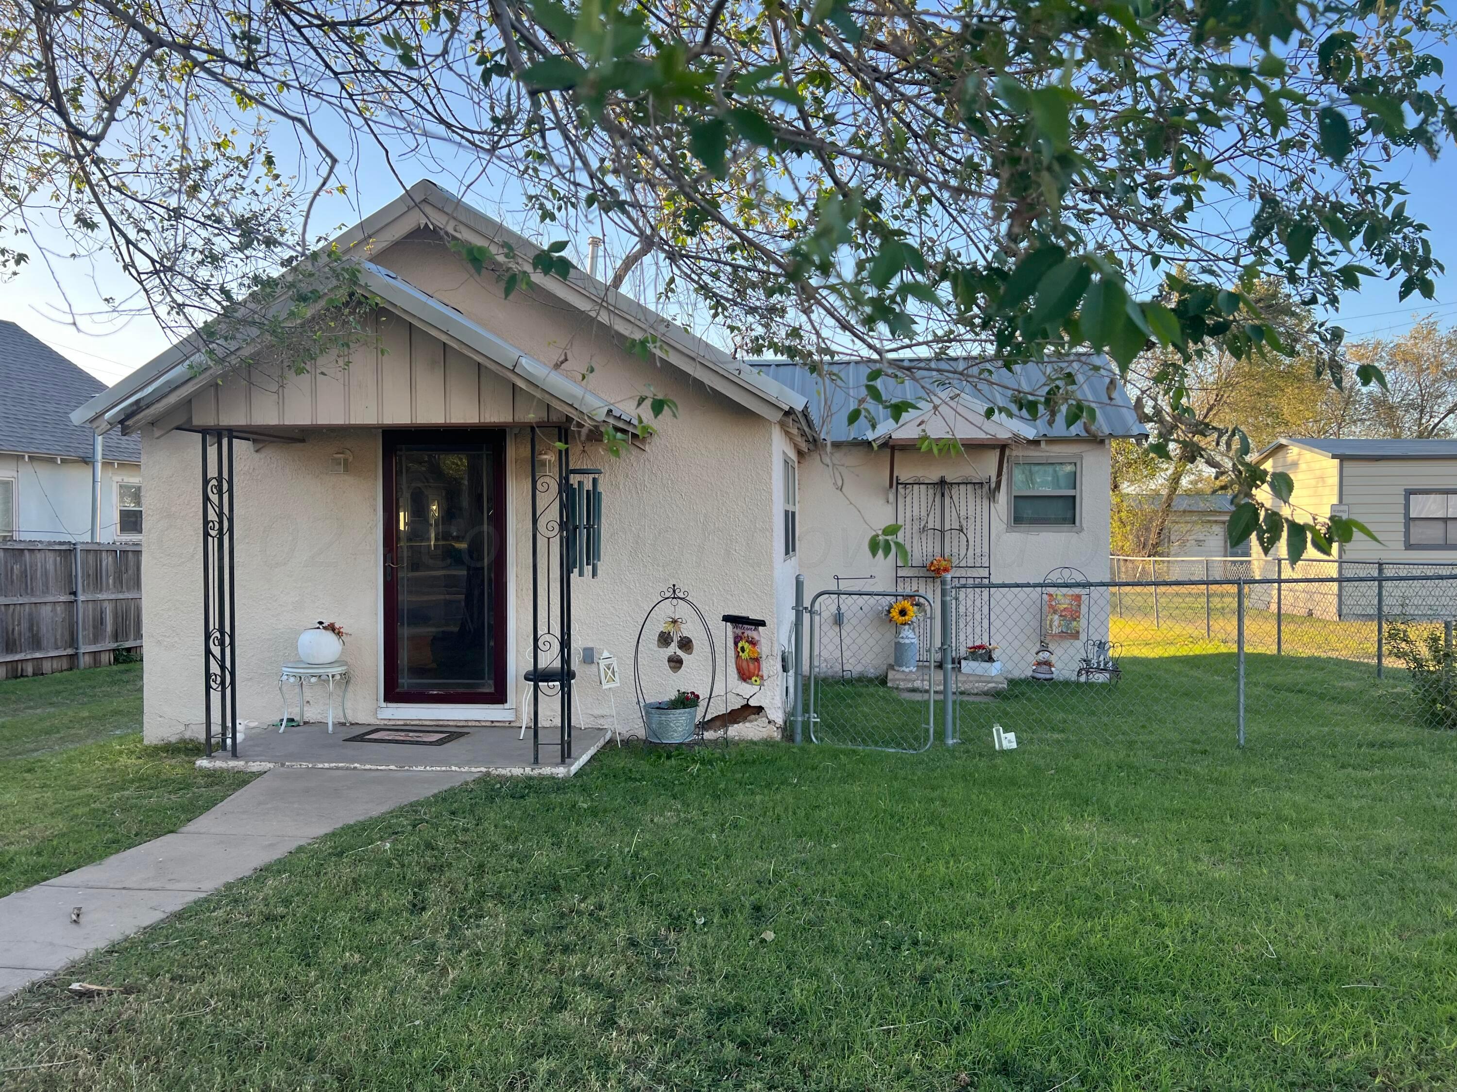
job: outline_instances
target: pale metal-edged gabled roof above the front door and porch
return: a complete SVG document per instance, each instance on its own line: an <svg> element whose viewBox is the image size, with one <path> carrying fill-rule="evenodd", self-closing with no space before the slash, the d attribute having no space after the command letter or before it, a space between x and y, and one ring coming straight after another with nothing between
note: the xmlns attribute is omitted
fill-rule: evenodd
<svg viewBox="0 0 1457 1092"><path fill-rule="evenodd" d="M440 189L433 182L425 181L412 185L399 198L389 202L377 213L366 217L363 221L341 234L335 242L341 249L356 255L353 256L353 261L361 262L366 271L366 287L369 287L370 291L376 291L382 296L382 298L385 298L386 293L379 287L380 284L385 284L386 287L404 291L411 297L411 306L427 307L430 314L436 319L441 317L443 312L449 312L455 316L455 323L466 323L474 328L476 335L484 335L484 338L498 342L498 352L514 355L517 361L529 361L529 364L523 364L520 370L513 365L503 365L511 367L520 379L535 384L548 381L546 377L549 376L551 386L559 387L564 392L565 387L561 384L570 384L576 389L567 400L578 411L590 412L587 411L587 406L603 403L596 408L606 412L603 409L606 403L599 396L592 395L592 392L583 384L574 383L561 373L546 368L543 364L532 360L525 352L520 352L507 345L504 341L500 341L500 338L495 338L495 335L485 328L471 322L460 312L449 307L449 304L444 304L433 296L420 291L415 285L409 284L396 274L388 272L382 266L366 261L369 246L373 246L374 250L380 250L390 242L395 242L396 237L404 237L409 232L420 227L431 227L446 233L459 234L462 237L479 236L487 240L492 240L497 245L508 243L517 256L527 261L541 249L525 236L520 236L501 224L498 220L491 218L485 213L462 201L459 197ZM393 232L393 234L382 234L390 232ZM608 322L613 329L622 332L625 336L656 338L659 345L657 354L663 360L680 368L691 377L699 379L705 384L726 393L740 405L753 409L762 416L771 419L779 419L785 415L803 418L806 399L801 395L772 379L758 374L753 368L749 368L743 363L728 357L723 352L723 349L718 349L701 338L688 333L657 312L644 307L622 293L609 288L600 280L589 277L580 269L574 268L567 280L558 277L541 277L535 278L533 284L545 291L549 291L570 306ZM396 304L392 303L392 306ZM109 390L93 397L76 414L73 414L71 419L77 424L86 422L96 431L106 431L108 428L119 424L122 419L131 419L147 406L156 405L160 399L176 392L182 384L191 383L197 379L198 376L195 367L189 368L188 365L189 363L198 360L200 347L192 339L182 341L156 357L152 363L134 371L127 379L117 383ZM497 363L500 364L498 360ZM542 368L543 371L538 371L538 368ZM175 403L175 399L169 399L169 402ZM612 412L615 414L616 411ZM596 416L594 419L603 418Z"/></svg>

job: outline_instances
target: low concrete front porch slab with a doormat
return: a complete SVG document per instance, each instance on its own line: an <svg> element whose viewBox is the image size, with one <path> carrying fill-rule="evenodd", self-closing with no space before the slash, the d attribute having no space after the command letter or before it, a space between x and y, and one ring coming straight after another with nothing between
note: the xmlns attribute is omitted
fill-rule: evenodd
<svg viewBox="0 0 1457 1092"><path fill-rule="evenodd" d="M441 745L401 743L350 743L350 737L372 729L420 729L465 732ZM280 732L277 728L256 728L246 732L237 757L214 751L197 764L207 770L450 770L456 773L488 773L498 778L570 778L608 743L606 728L573 729L571 756L565 761L549 760L543 745L539 763L532 763L532 735L519 738L522 729L510 725L412 725L412 724L335 724L329 734L323 724L303 724Z"/></svg>

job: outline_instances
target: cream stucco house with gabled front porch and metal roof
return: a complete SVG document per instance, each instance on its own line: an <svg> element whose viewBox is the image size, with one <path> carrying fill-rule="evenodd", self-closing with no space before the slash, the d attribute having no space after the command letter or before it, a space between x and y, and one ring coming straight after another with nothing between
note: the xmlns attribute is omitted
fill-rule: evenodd
<svg viewBox="0 0 1457 1092"><path fill-rule="evenodd" d="M1099 361L1077 363L1090 399L1107 405L1097 437L1059 422L988 421L986 405L1010 403L1002 383L937 406L927 399L899 425L849 427L844 409L867 365L826 365L839 376L826 384L801 365L733 360L580 269L507 296L453 240L536 253L417 183L339 240L360 262L370 304L372 336L347 360L294 374L245 348L200 367L182 344L77 411L93 430L140 437L146 456L147 740L201 735L221 716L204 712L220 674L239 719L277 721L280 664L316 619L348 632L351 721L516 740L535 664L577 673L578 727L610 725L613 713L634 727L634 652L644 626L654 635L650 609L672 585L686 588L718 642L715 705L753 703L772 727L785 716L781 652L797 575L812 594L851 571L906 587L924 575L912 569L928 550L949 550L959 572L979 578L1106 571L1107 437L1142 430L1122 390L1109 395ZM613 453L603 437L634 430L644 392L676 412ZM960 451L922 451L925 435L954 437ZM599 524L590 501L577 507L592 483ZM562 485L571 502L557 507ZM925 518L947 501L960 510L954 524ZM583 527L568 536L565 562L552 537L558 515ZM230 534L205 534L204 517ZM912 550L900 569L865 546L895 521ZM217 630L223 572L235 579L223 596L230 632L214 632L205 649L204 610ZM692 629L695 616L680 613ZM763 622L762 687L728 670L724 614ZM653 686L704 677L701 633L696 651L680 676ZM599 686L587 658L603 652L624 689ZM307 697L312 722L323 697ZM557 705L543 702L541 716L558 716ZM541 761L565 760L565 747L549 747L541 744Z"/></svg>

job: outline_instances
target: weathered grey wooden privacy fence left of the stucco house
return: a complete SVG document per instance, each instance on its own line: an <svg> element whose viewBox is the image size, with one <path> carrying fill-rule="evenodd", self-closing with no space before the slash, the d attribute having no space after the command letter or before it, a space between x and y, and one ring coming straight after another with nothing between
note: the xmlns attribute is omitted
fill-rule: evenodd
<svg viewBox="0 0 1457 1092"><path fill-rule="evenodd" d="M141 546L0 542L0 678L141 648Z"/></svg>

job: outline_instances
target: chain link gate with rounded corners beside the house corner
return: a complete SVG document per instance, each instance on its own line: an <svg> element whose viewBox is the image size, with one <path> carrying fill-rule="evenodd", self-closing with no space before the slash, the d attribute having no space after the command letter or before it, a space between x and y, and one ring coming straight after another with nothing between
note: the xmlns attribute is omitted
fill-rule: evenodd
<svg viewBox="0 0 1457 1092"><path fill-rule="evenodd" d="M806 716L814 743L880 751L924 751L935 738L935 648L896 671L889 612L909 600L925 632L938 633L934 604L911 591L820 591L809 606Z"/></svg>

